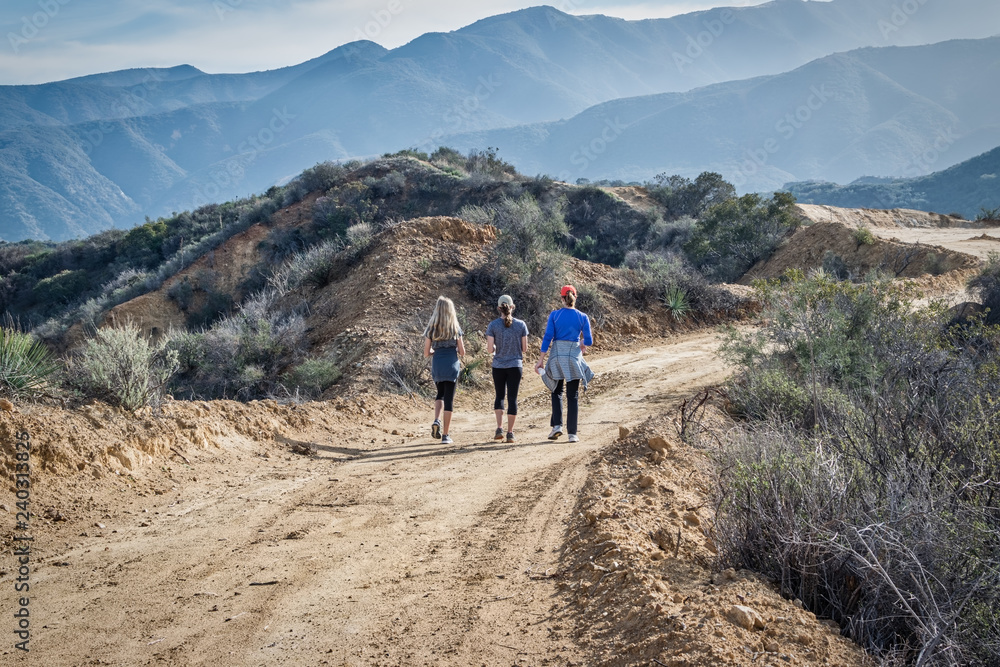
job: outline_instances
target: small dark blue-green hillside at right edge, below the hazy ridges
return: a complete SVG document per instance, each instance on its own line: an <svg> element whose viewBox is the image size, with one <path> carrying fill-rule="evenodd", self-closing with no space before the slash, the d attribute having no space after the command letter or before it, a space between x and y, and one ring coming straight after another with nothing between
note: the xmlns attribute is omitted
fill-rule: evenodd
<svg viewBox="0 0 1000 667"><path fill-rule="evenodd" d="M841 208L911 208L958 213L973 220L1000 207L1000 148L926 176L861 178L848 185L817 181L787 183L803 204Z"/></svg>

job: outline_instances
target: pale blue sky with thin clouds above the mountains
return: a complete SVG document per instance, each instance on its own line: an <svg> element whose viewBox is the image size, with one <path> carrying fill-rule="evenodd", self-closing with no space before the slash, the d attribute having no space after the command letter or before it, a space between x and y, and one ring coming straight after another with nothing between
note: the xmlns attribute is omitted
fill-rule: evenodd
<svg viewBox="0 0 1000 667"><path fill-rule="evenodd" d="M274 69L361 37L393 48L425 32L538 4L641 19L763 1L5 0L0 84L180 64L213 73Z"/></svg>

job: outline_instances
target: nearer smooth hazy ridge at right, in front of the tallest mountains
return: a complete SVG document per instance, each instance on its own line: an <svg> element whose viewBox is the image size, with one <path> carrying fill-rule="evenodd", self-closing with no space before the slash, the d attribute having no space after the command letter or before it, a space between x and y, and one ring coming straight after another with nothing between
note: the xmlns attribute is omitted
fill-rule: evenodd
<svg viewBox="0 0 1000 667"><path fill-rule="evenodd" d="M914 177L1000 146L1000 37L835 54L791 72L614 100L566 121L468 133L528 172L722 173L741 190Z"/></svg>

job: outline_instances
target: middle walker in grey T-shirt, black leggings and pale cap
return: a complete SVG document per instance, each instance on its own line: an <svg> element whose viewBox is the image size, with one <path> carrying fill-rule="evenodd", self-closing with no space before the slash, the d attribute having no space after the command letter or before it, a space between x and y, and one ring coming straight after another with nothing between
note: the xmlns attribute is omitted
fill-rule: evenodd
<svg viewBox="0 0 1000 667"><path fill-rule="evenodd" d="M500 317L486 327L486 352L493 355L493 387L496 400L493 411L497 416L494 440L503 440L503 404L506 394L507 442L514 442L514 420L517 419L517 390L521 386L524 353L528 351L528 325L514 319L514 299L504 294L497 301Z"/></svg>

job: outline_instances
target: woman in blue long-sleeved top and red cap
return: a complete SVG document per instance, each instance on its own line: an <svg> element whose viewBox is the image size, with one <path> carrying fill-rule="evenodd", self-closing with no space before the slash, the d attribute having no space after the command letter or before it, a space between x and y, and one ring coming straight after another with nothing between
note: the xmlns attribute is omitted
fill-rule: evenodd
<svg viewBox="0 0 1000 667"><path fill-rule="evenodd" d="M566 431L570 442L580 442L576 432L580 383L586 388L594 379L594 372L583 360L583 353L594 344L594 339L590 331L590 318L576 309L576 288L566 285L560 295L563 308L549 314L545 336L542 338L542 354L535 364L535 372L542 374L542 381L552 392L552 419L549 423L552 432L549 433L549 440L555 440L563 432L562 394L565 384Z"/></svg>

